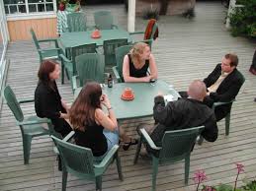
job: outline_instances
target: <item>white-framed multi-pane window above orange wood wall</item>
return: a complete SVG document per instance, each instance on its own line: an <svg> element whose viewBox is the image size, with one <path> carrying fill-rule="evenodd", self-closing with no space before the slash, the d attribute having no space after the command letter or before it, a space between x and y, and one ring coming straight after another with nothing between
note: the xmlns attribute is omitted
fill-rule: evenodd
<svg viewBox="0 0 256 191"><path fill-rule="evenodd" d="M54 11L55 0L4 0L6 15L28 15Z"/></svg>

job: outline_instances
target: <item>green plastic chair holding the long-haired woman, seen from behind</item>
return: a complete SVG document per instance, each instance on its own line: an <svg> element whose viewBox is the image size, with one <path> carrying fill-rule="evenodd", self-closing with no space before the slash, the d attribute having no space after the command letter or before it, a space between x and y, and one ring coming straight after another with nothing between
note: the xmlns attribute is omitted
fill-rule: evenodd
<svg viewBox="0 0 256 191"><path fill-rule="evenodd" d="M66 190L68 173L79 178L94 180L96 182L96 190L102 190L102 175L114 159L116 159L119 178L123 180L118 145L114 146L102 161L97 162L90 149L67 143L54 136L50 137L57 146L62 160L62 191Z"/></svg>

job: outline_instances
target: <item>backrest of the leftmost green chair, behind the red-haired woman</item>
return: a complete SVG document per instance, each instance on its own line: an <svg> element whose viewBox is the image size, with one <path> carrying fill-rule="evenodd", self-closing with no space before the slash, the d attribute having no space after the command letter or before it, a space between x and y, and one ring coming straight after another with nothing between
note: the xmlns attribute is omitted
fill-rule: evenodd
<svg viewBox="0 0 256 191"><path fill-rule="evenodd" d="M12 110L17 121L23 121L24 115L22 112L22 108L10 86L5 87L4 89L4 97L6 99L7 105Z"/></svg>

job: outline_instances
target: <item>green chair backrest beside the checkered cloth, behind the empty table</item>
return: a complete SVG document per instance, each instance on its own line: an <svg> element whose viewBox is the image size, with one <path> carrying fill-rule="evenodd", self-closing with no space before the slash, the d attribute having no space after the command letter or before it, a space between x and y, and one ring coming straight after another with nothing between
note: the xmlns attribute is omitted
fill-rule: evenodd
<svg viewBox="0 0 256 191"><path fill-rule="evenodd" d="M86 17L84 13L69 13L66 15L68 32L85 32Z"/></svg>

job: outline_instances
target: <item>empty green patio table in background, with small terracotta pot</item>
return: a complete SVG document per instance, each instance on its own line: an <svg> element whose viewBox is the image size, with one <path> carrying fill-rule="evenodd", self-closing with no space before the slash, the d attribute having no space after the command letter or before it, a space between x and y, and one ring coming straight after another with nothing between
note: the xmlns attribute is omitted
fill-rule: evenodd
<svg viewBox="0 0 256 191"><path fill-rule="evenodd" d="M101 30L101 37L99 38L92 38L92 32L63 32L58 38L60 46L66 50L67 48L87 43L96 43L97 46L102 46L103 41L106 39L128 38L128 42L132 41L129 33L123 29Z"/></svg>

